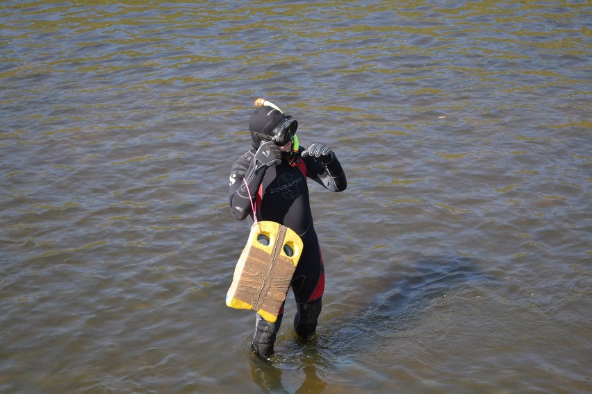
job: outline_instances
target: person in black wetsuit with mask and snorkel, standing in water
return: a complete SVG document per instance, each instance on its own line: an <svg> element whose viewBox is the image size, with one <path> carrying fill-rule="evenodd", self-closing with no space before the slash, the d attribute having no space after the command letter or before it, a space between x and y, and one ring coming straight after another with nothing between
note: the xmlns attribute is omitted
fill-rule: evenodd
<svg viewBox="0 0 592 394"><path fill-rule="evenodd" d="M306 178L331 191L345 190L347 182L329 146L311 144L306 149L299 148L296 119L284 115L269 101L258 101L263 106L249 119L251 148L231 168L230 209L238 220L248 217L249 225L254 223L256 214L258 221L285 225L302 239L304 248L290 286L297 305L294 329L306 339L316 330L324 291L324 268ZM252 201L256 212L252 212ZM282 314L283 307L275 323L256 316L252 345L261 357L273 353Z"/></svg>

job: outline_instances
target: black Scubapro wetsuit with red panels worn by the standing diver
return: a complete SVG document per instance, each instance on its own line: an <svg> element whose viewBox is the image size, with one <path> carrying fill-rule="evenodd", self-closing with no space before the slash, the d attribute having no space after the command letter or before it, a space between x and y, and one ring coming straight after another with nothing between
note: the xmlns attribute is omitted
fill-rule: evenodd
<svg viewBox="0 0 592 394"><path fill-rule="evenodd" d="M254 222L252 205L242 180L256 151L257 148L252 147L236 160L230 174L231 212L238 220L248 217L249 225ZM297 304L294 328L302 337L315 332L324 291L324 268L313 226L306 178L315 180L331 191L343 191L347 185L337 157L334 156L329 164L323 165L311 156L299 156L294 166L282 160L281 164L266 170L254 202L258 221L274 221L285 225L294 230L304 243L290 284ZM251 190L251 194L255 194L255 191ZM276 323L266 322L257 316L253 348L261 356L268 356L273 351L275 334L280 324L281 314Z"/></svg>

